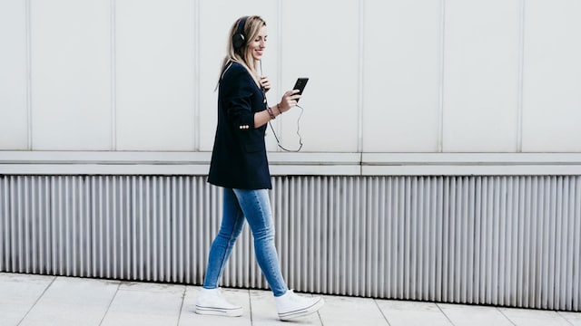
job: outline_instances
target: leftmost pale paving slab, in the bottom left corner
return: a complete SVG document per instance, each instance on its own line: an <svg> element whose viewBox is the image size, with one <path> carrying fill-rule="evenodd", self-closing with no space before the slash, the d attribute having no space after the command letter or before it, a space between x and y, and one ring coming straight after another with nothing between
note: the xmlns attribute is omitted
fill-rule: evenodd
<svg viewBox="0 0 581 326"><path fill-rule="evenodd" d="M55 276L0 273L0 325L22 321L55 279Z"/></svg>

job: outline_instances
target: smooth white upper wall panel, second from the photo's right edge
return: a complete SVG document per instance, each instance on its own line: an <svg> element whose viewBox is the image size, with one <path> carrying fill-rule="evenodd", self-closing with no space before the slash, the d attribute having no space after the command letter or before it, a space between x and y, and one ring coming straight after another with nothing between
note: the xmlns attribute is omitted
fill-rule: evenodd
<svg viewBox="0 0 581 326"><path fill-rule="evenodd" d="M517 150L519 0L448 0L443 150Z"/></svg>

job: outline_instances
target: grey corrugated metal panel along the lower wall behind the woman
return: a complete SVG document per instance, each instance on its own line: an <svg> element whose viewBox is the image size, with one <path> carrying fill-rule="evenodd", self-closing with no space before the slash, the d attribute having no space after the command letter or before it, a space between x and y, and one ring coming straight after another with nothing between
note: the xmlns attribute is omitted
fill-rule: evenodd
<svg viewBox="0 0 581 326"><path fill-rule="evenodd" d="M291 288L581 310L581 177L274 177ZM0 176L0 271L201 284L205 177ZM266 288L246 229L224 286Z"/></svg>

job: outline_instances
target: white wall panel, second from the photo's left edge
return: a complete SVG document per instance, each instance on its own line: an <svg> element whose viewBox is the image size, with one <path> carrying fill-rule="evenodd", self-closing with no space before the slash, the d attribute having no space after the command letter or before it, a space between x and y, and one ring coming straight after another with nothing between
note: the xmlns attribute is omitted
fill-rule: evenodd
<svg viewBox="0 0 581 326"><path fill-rule="evenodd" d="M111 148L109 2L31 1L33 149Z"/></svg>

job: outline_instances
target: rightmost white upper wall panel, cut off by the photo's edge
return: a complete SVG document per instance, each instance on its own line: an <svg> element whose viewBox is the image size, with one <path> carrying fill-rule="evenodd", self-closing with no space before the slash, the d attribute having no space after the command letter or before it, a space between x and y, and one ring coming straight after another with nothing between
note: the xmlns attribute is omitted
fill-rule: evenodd
<svg viewBox="0 0 581 326"><path fill-rule="evenodd" d="M523 150L581 151L581 2L527 1Z"/></svg>

